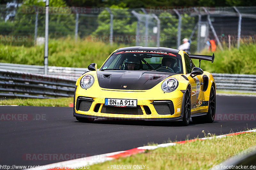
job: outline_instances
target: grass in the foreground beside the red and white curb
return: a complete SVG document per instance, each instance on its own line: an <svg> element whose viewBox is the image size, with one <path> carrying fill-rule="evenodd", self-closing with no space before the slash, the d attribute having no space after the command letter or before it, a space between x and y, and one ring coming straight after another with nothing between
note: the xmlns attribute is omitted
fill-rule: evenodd
<svg viewBox="0 0 256 170"><path fill-rule="evenodd" d="M113 169L113 165L145 165L148 170L209 169L225 159L256 145L256 133L214 138L148 150L145 153L91 165L93 170ZM142 166L143 167L143 166Z"/></svg>

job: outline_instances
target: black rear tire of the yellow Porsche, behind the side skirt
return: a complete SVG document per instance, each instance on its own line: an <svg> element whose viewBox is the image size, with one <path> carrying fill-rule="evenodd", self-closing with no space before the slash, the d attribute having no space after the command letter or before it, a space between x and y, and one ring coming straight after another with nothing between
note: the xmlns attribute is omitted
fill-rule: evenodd
<svg viewBox="0 0 256 170"><path fill-rule="evenodd" d="M203 117L193 117L193 123L212 123L215 118L216 111L216 93L214 85L211 86L209 103L208 103L208 112L206 116Z"/></svg>

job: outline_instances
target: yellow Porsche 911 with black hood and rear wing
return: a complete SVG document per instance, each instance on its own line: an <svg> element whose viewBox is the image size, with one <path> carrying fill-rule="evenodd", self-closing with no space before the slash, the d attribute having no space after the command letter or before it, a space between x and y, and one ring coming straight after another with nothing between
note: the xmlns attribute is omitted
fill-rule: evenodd
<svg viewBox="0 0 256 170"><path fill-rule="evenodd" d="M212 74L191 59L214 60L214 54L188 55L164 47L115 50L99 70L92 63L76 81L74 113L78 121L114 120L213 122L216 86Z"/></svg>

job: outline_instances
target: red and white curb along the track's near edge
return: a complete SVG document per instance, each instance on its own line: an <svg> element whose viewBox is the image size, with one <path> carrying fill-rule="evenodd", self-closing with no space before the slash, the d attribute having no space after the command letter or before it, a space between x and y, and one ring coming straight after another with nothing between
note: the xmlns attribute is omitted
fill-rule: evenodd
<svg viewBox="0 0 256 170"><path fill-rule="evenodd" d="M248 131L243 131L243 132L236 132L236 133L230 133L226 135L220 135L220 136L214 136L214 137L204 137L200 139L192 139L192 140L186 140L186 141L179 141L179 142L174 142L174 143L166 143L166 144L158 144L155 146L141 146L133 149L129 149L126 151L119 151L119 152L111 152L111 153L105 153L105 154L100 154L100 155L93 155L89 157L84 157L84 158L79 158L79 159L73 159L73 160L67 160L63 162L57 162L53 164L48 164L48 165L43 165L39 166L37 168L31 168L29 170L56 170L56 169L74 169L77 167L86 167L87 165L93 165L113 159L118 159L121 157L127 157L131 156L133 154L137 153L143 153L146 150L153 150L159 147L167 147L167 146L173 146L176 144L185 144L188 142L194 142L196 140L206 140L206 139L213 139L213 138L222 138L222 137L227 137L227 136L235 136L243 133L250 133L250 132L256 132L256 129L253 130L248 130Z"/></svg>

